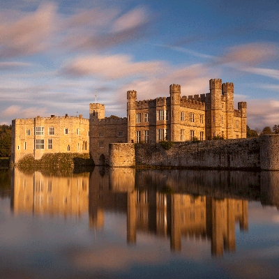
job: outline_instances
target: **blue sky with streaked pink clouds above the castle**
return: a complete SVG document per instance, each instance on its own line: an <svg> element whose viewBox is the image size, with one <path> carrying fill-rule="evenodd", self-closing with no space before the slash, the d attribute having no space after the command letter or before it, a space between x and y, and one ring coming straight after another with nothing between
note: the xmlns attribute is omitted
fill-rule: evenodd
<svg viewBox="0 0 279 279"><path fill-rule="evenodd" d="M234 82L248 126L279 124L279 1L0 0L0 124L126 116L137 99L208 93ZM95 98L96 93L96 98Z"/></svg>

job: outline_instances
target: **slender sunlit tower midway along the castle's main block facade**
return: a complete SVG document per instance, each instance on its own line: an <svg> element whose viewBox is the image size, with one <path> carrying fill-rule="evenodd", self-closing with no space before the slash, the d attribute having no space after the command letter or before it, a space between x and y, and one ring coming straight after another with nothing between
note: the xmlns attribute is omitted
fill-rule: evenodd
<svg viewBox="0 0 279 279"><path fill-rule="evenodd" d="M170 140L172 142L180 141L180 93L179 84L169 85L170 94Z"/></svg>

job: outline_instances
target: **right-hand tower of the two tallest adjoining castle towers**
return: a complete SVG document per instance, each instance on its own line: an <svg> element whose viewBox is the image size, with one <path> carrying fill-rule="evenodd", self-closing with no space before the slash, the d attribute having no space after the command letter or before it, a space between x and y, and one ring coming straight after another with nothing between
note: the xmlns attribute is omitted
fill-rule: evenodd
<svg viewBox="0 0 279 279"><path fill-rule="evenodd" d="M234 139L234 84L226 82L222 85L224 96L225 138Z"/></svg>

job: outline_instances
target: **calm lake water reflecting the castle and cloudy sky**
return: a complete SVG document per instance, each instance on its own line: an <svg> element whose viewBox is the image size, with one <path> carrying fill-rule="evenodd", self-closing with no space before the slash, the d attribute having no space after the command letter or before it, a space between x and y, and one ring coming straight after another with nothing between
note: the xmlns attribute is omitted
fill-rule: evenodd
<svg viewBox="0 0 279 279"><path fill-rule="evenodd" d="M0 278L278 278L279 172L0 170Z"/></svg>

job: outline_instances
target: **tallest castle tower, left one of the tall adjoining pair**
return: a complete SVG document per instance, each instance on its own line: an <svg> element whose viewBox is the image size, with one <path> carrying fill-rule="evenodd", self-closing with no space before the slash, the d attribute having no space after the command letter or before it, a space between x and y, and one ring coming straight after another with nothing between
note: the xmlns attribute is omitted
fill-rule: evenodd
<svg viewBox="0 0 279 279"><path fill-rule="evenodd" d="M206 139L222 135L222 80L209 80L210 100L206 103Z"/></svg>

